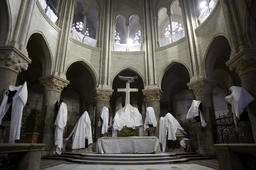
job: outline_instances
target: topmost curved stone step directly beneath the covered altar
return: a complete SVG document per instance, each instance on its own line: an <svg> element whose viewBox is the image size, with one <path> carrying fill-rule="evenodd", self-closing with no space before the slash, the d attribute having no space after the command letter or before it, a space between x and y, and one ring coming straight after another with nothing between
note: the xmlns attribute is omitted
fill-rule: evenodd
<svg viewBox="0 0 256 170"><path fill-rule="evenodd" d="M81 154L91 158L165 158L175 154Z"/></svg>

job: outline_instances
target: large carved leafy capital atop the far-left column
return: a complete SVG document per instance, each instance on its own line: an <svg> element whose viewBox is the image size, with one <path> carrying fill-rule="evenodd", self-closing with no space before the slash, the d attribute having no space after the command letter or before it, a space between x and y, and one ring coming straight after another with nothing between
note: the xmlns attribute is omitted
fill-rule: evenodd
<svg viewBox="0 0 256 170"><path fill-rule="evenodd" d="M23 54L15 45L0 46L0 67L13 70L19 74L22 69L27 70L31 63L27 52Z"/></svg>

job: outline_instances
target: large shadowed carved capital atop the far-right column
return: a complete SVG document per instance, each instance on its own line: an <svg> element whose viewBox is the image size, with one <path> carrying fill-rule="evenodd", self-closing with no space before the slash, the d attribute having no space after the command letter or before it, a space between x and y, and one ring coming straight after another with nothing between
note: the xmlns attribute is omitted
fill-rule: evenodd
<svg viewBox="0 0 256 170"><path fill-rule="evenodd" d="M236 54L230 55L230 60L226 62L231 71L240 76L244 73L256 70L256 50L243 49Z"/></svg>

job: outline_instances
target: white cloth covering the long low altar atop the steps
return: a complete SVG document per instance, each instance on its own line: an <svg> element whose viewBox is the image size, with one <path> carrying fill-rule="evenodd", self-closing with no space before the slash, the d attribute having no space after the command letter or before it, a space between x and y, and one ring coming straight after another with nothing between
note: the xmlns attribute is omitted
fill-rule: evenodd
<svg viewBox="0 0 256 170"><path fill-rule="evenodd" d="M159 140L147 137L101 137L97 140L97 154L160 153Z"/></svg>

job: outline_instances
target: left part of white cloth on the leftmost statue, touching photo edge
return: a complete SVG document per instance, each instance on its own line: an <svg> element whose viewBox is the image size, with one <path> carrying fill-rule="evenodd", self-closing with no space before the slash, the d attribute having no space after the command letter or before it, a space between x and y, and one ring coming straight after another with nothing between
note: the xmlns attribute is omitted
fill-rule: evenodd
<svg viewBox="0 0 256 170"><path fill-rule="evenodd" d="M3 92L3 100L0 106L0 125L2 123L2 118L5 116L6 112L9 110L11 103L8 103L8 94L9 90L14 91L14 90L19 90L22 85L15 87L15 86L9 86L5 92Z"/></svg>

